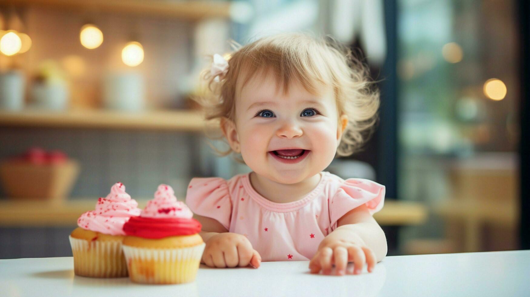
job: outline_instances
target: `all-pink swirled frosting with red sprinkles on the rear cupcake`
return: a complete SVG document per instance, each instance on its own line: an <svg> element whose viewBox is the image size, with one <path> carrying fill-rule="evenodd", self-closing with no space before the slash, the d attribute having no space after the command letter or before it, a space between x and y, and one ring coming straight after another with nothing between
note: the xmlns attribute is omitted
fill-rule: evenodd
<svg viewBox="0 0 530 297"><path fill-rule="evenodd" d="M125 192L121 182L117 182L107 197L98 199L95 211L85 212L77 219L77 225L103 234L125 235L123 224L140 212L136 200Z"/></svg>

